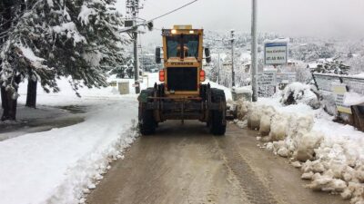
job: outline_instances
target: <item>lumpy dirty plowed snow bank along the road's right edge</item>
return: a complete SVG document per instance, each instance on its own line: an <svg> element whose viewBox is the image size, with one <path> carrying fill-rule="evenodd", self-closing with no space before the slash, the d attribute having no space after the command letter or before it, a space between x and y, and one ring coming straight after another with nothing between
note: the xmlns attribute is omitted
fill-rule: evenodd
<svg viewBox="0 0 364 204"><path fill-rule="evenodd" d="M302 88L294 86L296 90ZM286 89L283 100L277 96L258 102L240 101L236 104L238 115L245 117L239 119L259 131L258 139L265 142L268 151L288 158L302 170L301 178L311 180L307 188L340 193L350 203L363 204L364 133L333 122L322 109L314 110L312 104L315 107L317 102L310 93L309 99L300 98L296 104L285 106L282 101L287 95Z"/></svg>

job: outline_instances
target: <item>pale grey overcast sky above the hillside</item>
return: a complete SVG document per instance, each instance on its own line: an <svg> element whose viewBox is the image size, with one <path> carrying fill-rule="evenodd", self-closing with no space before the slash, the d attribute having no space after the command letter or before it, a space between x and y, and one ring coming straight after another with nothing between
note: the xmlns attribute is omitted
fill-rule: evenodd
<svg viewBox="0 0 364 204"><path fill-rule="evenodd" d="M117 0L125 15L125 0ZM140 17L163 15L191 0L147 0ZM143 2L143 1L141 1ZM193 24L207 30L250 32L251 0L198 0L155 22L156 28ZM364 38L364 0L258 0L258 31L290 36ZM145 34L157 40L160 31Z"/></svg>

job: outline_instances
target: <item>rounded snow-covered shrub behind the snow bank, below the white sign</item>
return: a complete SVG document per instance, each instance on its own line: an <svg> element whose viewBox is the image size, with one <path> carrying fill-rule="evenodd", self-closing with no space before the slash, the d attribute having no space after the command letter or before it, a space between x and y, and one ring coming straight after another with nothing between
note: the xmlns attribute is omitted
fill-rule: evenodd
<svg viewBox="0 0 364 204"><path fill-rule="evenodd" d="M290 83L282 92L281 102L285 105L305 103L314 109L318 109L318 95L313 92L309 85L303 83Z"/></svg>

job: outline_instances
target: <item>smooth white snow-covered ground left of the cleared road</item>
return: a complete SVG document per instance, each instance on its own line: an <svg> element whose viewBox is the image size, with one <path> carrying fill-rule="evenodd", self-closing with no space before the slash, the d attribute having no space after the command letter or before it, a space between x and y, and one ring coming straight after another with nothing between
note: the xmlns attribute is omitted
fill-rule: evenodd
<svg viewBox="0 0 364 204"><path fill-rule="evenodd" d="M155 77L151 74L150 82ZM82 98L77 98L66 80L59 86L58 93L46 94L39 89L37 104L82 106L85 121L0 141L0 203L82 202L84 193L103 178L109 163L122 158L136 138L136 94L119 95L115 88L107 87L81 89ZM25 89L23 84L20 104L25 103ZM130 87L130 92L134 88ZM52 109L20 109L18 116L20 120L58 117L59 110Z"/></svg>

